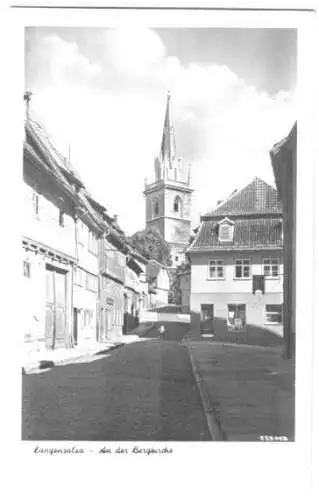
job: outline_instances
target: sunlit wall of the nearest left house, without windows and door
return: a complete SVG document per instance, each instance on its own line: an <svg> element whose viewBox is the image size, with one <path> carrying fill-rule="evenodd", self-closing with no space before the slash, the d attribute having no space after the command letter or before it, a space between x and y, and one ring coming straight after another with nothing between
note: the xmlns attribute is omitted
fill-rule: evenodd
<svg viewBox="0 0 319 500"><path fill-rule="evenodd" d="M37 170L26 158L23 165L22 236L37 243L38 248L64 254L75 259L75 224L72 202L60 186L45 172ZM38 213L34 194L39 195ZM63 226L60 225L60 209ZM56 347L68 347L72 339L72 265L62 265L54 257L22 250L23 261L30 264L30 276L23 276L24 341L27 350L46 349L46 264L65 272L64 341Z"/></svg>

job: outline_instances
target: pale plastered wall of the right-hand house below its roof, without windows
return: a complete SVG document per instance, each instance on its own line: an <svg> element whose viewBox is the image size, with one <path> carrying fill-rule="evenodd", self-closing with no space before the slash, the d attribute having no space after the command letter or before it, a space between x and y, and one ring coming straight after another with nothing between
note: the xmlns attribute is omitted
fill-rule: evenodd
<svg viewBox="0 0 319 500"><path fill-rule="evenodd" d="M264 258L280 259L278 278L265 278L265 294L259 296L252 293L252 278L234 279L235 259L251 258L251 275L263 274ZM224 259L225 279L208 278L208 261ZM283 303L283 253L279 250L260 251L246 254L207 253L191 256L191 299L190 307L193 314L192 329L198 333L200 328L201 304L214 304L214 324L219 329L227 329L227 304L246 304L246 321L251 325L260 326L282 336L282 325L266 325L265 305ZM222 320L222 321L219 321Z"/></svg>

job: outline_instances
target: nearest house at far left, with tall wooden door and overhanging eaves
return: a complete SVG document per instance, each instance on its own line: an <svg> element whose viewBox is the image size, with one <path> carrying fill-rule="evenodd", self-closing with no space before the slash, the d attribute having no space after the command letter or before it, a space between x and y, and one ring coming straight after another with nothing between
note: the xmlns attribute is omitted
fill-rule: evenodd
<svg viewBox="0 0 319 500"><path fill-rule="evenodd" d="M72 346L75 191L37 122L23 146L23 310L27 350Z"/></svg>

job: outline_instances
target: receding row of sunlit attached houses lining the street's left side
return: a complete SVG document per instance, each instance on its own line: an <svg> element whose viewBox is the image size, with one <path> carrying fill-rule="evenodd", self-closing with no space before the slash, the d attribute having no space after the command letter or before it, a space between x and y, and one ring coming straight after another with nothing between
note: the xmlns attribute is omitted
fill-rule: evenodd
<svg viewBox="0 0 319 500"><path fill-rule="evenodd" d="M149 303L147 260L29 114L23 181L26 354L85 347L127 333L127 313L133 311L136 322Z"/></svg>

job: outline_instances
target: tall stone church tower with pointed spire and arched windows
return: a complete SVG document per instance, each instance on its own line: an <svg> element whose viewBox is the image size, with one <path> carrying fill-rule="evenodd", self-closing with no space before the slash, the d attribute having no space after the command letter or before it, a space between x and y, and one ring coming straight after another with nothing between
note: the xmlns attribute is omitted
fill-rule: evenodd
<svg viewBox="0 0 319 500"><path fill-rule="evenodd" d="M191 232L190 165L176 157L171 117L171 96L167 104L159 156L155 158L155 182L145 180L146 227L157 227L171 247L172 266L184 260Z"/></svg>

